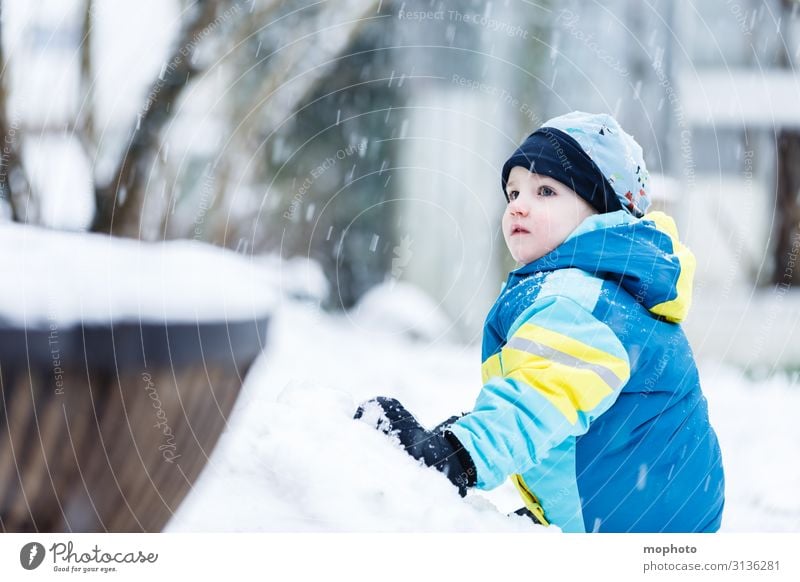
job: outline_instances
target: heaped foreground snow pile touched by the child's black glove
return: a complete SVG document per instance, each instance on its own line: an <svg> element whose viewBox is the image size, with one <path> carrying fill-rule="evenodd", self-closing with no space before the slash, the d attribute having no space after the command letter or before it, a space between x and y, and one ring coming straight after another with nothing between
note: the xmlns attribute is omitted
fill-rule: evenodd
<svg viewBox="0 0 800 582"><path fill-rule="evenodd" d="M249 467L258 476L249 504L234 508L241 515L232 516L228 504L205 504L199 511L187 501L181 513L192 515L171 530L237 530L245 523L258 531L542 529L525 518L507 517L485 499L462 500L436 470L353 420L355 408L344 392L287 386L260 410L258 428L238 453L226 455L217 467L234 472ZM212 496L230 492L223 481L207 486Z"/></svg>

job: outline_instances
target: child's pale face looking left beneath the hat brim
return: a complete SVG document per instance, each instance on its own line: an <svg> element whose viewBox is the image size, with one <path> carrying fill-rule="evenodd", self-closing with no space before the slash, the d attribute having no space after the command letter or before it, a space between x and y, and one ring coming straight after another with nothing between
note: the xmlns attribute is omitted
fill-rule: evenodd
<svg viewBox="0 0 800 582"><path fill-rule="evenodd" d="M522 166L511 168L506 198L503 236L511 256L521 264L543 257L585 218L597 214L569 186Z"/></svg>

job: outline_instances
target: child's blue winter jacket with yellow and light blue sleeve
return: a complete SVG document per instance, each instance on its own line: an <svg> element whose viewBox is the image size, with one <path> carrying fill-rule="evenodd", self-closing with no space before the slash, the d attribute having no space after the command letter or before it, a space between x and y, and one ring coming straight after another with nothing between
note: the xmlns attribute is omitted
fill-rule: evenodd
<svg viewBox="0 0 800 582"><path fill-rule="evenodd" d="M453 434L477 484L510 477L566 532L710 532L724 476L679 322L695 261L671 218L587 218L512 271L486 318L483 388Z"/></svg>

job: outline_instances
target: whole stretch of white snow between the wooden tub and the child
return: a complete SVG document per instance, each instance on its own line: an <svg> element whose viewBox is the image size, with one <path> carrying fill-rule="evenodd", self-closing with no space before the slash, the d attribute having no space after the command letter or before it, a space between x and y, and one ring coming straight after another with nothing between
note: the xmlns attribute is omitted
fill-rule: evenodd
<svg viewBox="0 0 800 582"><path fill-rule="evenodd" d="M396 439L353 419L378 395L401 398L427 426L465 410L479 370L463 362L477 352L376 342L341 317L290 301L271 335L167 531L548 531L506 515L521 506L516 492L502 509L484 492L462 499ZM439 377L442 367L449 373Z"/></svg>

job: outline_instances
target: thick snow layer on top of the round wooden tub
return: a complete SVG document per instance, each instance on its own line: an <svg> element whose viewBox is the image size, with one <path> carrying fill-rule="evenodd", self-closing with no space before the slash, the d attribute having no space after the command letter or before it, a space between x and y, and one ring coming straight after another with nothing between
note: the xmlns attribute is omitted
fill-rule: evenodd
<svg viewBox="0 0 800 582"><path fill-rule="evenodd" d="M270 313L263 269L195 241L145 243L105 235L0 225L0 320L227 321Z"/></svg>

